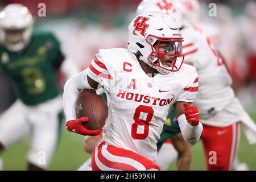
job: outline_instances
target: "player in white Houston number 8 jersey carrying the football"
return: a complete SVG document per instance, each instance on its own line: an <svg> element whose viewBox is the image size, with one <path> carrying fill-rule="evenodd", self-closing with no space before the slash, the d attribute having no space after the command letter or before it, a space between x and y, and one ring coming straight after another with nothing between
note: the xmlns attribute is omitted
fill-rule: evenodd
<svg viewBox="0 0 256 182"><path fill-rule="evenodd" d="M184 139L192 144L199 140L203 126L197 108L188 104L196 97L198 75L194 67L182 64L182 41L170 16L140 14L129 25L128 49L100 49L89 68L66 82L66 126L75 133L101 133L82 125L90 118L76 118L80 90L102 85L110 96L103 138L93 151L93 170L159 170L156 142L173 105Z"/></svg>

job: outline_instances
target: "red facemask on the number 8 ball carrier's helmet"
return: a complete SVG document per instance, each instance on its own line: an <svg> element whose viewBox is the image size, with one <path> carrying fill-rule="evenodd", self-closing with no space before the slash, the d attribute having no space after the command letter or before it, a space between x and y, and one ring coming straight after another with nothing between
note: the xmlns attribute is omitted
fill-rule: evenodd
<svg viewBox="0 0 256 182"><path fill-rule="evenodd" d="M182 54L183 39L148 35L146 42L152 49L147 60L154 65L159 73L166 75L169 72L179 71L184 60Z"/></svg>

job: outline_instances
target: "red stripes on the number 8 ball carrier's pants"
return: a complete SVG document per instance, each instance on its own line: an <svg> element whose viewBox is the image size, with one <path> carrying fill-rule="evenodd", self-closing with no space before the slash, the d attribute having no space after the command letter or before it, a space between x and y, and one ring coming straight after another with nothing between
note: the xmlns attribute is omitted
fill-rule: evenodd
<svg viewBox="0 0 256 182"><path fill-rule="evenodd" d="M100 142L102 142L102 140L100 140ZM109 167L109 168L113 168L114 169L119 169L119 170L125 170L125 171L137 171L138 169L135 168L134 166L131 166L130 164L126 164L126 163L119 163L119 162L112 162L108 159L106 159L103 155L102 155L102 146L104 146L104 144L106 144L104 141L101 144L97 144L97 150L98 150L98 159L100 160L100 162L102 164L104 164L104 166ZM96 164L96 147L93 150L93 155L92 155L92 169L93 171L101 171L101 169L97 166ZM115 146L110 146L108 145L108 147L106 148L108 150L108 152L112 155L115 156L122 156L125 158L130 158L130 159L134 159L137 160L139 163L141 163L146 169L158 169L160 170L160 168L150 159L145 158L142 155L136 154L133 151L129 151L129 150L125 150L123 148L118 148ZM128 161L127 161L128 163ZM133 162L134 163L134 162ZM104 171L105 169L102 169L102 171Z"/></svg>

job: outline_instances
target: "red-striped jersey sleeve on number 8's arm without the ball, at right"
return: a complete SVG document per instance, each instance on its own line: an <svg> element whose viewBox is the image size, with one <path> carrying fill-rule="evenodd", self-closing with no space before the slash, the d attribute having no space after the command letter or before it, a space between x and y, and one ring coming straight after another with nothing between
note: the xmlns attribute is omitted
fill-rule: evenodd
<svg viewBox="0 0 256 182"><path fill-rule="evenodd" d="M180 102L193 102L196 98L197 91L199 89L198 80L199 77L196 72L188 75L190 76L190 82L187 86L183 88L177 101Z"/></svg>

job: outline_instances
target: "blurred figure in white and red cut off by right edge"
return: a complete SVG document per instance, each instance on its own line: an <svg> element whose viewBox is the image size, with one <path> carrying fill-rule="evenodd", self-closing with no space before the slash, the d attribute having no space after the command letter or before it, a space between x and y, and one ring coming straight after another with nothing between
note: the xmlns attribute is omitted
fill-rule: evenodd
<svg viewBox="0 0 256 182"><path fill-rule="evenodd" d="M245 87L238 96L248 108L254 106L256 102L256 2L247 1L244 6L244 14L239 17L238 23L242 45L240 54L245 59Z"/></svg>

